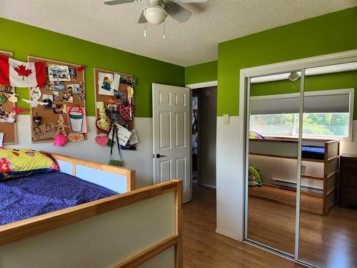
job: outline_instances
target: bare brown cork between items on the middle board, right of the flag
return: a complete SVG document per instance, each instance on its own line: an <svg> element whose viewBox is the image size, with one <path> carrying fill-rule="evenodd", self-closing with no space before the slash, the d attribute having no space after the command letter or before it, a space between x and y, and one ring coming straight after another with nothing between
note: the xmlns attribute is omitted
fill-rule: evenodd
<svg viewBox="0 0 357 268"><path fill-rule="evenodd" d="M85 80L84 80L84 70L78 71L77 68L80 67L81 65L78 64L70 64L67 62L62 62L62 61L54 61L51 59L43 59L43 58L38 58L35 56L28 56L27 57L29 62L37 62L37 61L45 61L46 66L48 67L49 64L56 64L56 65L62 65L62 66L69 66L69 68L76 69L76 78L71 76L71 81L61 81L63 83L60 83L61 86L64 85L65 90L54 90L55 88L59 88L55 84L51 86L47 86L47 88L41 88L41 98L39 101L44 100L44 95L52 95L54 92L58 92L55 94L58 94L58 100L53 99L53 105L56 105L56 107L59 106L64 106L66 105L66 108L70 108L72 106L78 105L81 106L82 109L85 110L86 108L86 99L84 96L84 99L80 99L79 95L74 92L73 94L73 102L66 102L66 101L61 101L61 99L64 97L64 94L69 93L69 85L73 84L81 84L81 88L84 89L85 91ZM47 78L49 78L49 74L47 74ZM50 82L51 83L51 82ZM31 91L31 88L29 89ZM75 91L75 90L74 90ZM31 99L31 97L30 97ZM34 116L41 116L41 125L44 126L51 126L52 124L56 126L57 121L59 120L59 114L54 113L54 109L46 109L43 105L38 105L36 108L35 107L30 107L31 111L31 137L32 137L32 143L41 143L41 142L54 142L54 135L46 139L38 139L38 137L35 136L34 134ZM61 114L61 116L64 119L64 124L66 126L69 126L69 120L67 118L67 114ZM70 128L66 128L66 133L70 133ZM84 140L86 139L86 134L84 133Z"/></svg>

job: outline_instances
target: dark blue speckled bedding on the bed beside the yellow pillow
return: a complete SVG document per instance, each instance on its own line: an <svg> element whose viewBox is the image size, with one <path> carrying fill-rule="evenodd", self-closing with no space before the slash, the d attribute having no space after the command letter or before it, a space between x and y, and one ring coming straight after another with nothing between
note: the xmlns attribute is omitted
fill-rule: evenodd
<svg viewBox="0 0 357 268"><path fill-rule="evenodd" d="M62 172L0 182L0 225L118 194Z"/></svg>

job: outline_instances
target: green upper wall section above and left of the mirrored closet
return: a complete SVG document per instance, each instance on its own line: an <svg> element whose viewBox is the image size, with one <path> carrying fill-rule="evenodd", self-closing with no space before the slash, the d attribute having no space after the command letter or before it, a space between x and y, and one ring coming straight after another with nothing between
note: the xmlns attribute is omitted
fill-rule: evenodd
<svg viewBox="0 0 357 268"><path fill-rule="evenodd" d="M220 43L217 114L238 115L240 69L351 49L357 7Z"/></svg>

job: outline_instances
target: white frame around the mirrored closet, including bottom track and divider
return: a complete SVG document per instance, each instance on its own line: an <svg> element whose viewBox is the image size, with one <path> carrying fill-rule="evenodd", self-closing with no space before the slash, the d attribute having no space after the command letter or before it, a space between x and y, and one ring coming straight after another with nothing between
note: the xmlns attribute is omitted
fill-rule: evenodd
<svg viewBox="0 0 357 268"><path fill-rule="evenodd" d="M338 52L338 53L333 53L333 54L325 54L321 56L313 56L313 57L308 57L308 58L303 58L303 59L296 59L293 61L283 61L277 64L267 64L267 65L262 65L262 66L255 66L251 68L246 68L246 69L241 69L240 71L240 80L239 80L239 121L240 121L240 129L237 129L237 131L240 132L241 134L241 144L238 146L238 152L241 153L241 155L245 156L243 157L243 161L241 163L238 163L238 168L241 170L241 174L239 176L241 178L238 178L238 183L243 184L243 191L239 192L238 194L241 195L242 197L242 207L238 208L243 211L243 215L241 215L241 222L238 222L241 226L241 237L239 237L241 241L247 242L248 244L253 244L254 246L261 247L262 249L272 252L274 254L278 254L282 257L287 257L288 259L292 259L295 262L301 263L306 265L306 263L301 262L298 260L298 234L299 234L299 222L300 222L300 215L298 211L298 204L300 203L300 197L298 195L298 192L296 193L296 246L297 248L295 249L295 254L294 257L289 257L286 255L281 254L281 252L276 252L274 249L270 249L269 247L266 247L265 245L258 244L258 243L252 243L251 241L248 241L247 239L247 212L248 212L248 185L246 183L247 180L247 174L248 170L246 168L247 162L246 162L246 149L248 148L248 139L247 139L247 124L249 122L247 121L247 116L248 116L248 96L249 96L249 82L248 79L251 77L255 76L266 76L266 75L271 75L271 74L276 74L276 73L283 73L287 72L289 70L304 70L308 68L313 68L313 67L318 67L318 66L324 66L324 65L333 65L333 64L343 64L343 63L348 63L351 61L357 61L357 49L351 50L351 51L343 51L343 52ZM303 83L303 81L302 81ZM302 84L303 86L303 84ZM301 100L302 102L302 100ZM301 104L302 105L302 104ZM300 144L301 146L301 144ZM309 264L307 264L309 266Z"/></svg>

